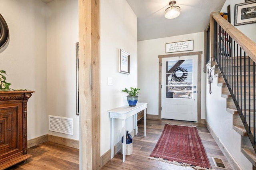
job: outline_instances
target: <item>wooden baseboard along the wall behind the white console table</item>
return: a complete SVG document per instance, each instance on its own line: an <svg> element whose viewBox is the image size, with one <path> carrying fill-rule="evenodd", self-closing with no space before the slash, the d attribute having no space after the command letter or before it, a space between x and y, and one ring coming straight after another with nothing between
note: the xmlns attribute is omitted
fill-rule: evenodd
<svg viewBox="0 0 256 170"><path fill-rule="evenodd" d="M133 129L131 132L129 132L131 136L135 136L135 129ZM118 152L121 152L122 149L122 141L120 140L114 145L114 155ZM111 148L106 153L104 153L102 156L100 156L100 167L104 166L109 160L111 159Z"/></svg>

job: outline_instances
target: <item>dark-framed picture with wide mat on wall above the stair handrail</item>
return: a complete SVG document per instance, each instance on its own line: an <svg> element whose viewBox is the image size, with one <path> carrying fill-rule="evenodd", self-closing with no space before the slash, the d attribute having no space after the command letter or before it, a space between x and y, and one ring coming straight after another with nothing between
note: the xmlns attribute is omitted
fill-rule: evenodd
<svg viewBox="0 0 256 170"><path fill-rule="evenodd" d="M256 0L235 4L234 26L256 23Z"/></svg>

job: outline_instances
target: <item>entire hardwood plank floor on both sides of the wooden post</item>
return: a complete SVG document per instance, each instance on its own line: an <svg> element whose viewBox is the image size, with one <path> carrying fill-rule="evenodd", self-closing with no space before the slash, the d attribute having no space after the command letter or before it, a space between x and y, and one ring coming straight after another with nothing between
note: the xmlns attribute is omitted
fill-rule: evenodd
<svg viewBox="0 0 256 170"><path fill-rule="evenodd" d="M139 132L132 139L133 153L126 156L126 161L122 162L122 154L119 152L112 160L109 160L102 170L170 170L171 165L157 160L148 159L160 137L166 123L174 125L196 125L202 139L206 153L215 168L212 157L221 158L228 170L232 168L220 151L220 148L212 138L208 129L198 126L196 123L171 120L150 120L146 122L146 137L144 137L144 121L138 121ZM28 149L32 157L26 163L22 162L9 168L9 170L78 170L79 169L79 150L70 148L54 142L44 142Z"/></svg>

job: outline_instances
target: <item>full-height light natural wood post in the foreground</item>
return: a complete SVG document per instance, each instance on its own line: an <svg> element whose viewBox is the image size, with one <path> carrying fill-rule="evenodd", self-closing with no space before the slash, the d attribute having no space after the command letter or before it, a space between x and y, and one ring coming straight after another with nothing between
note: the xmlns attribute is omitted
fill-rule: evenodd
<svg viewBox="0 0 256 170"><path fill-rule="evenodd" d="M100 168L99 5L99 0L78 0L80 170Z"/></svg>

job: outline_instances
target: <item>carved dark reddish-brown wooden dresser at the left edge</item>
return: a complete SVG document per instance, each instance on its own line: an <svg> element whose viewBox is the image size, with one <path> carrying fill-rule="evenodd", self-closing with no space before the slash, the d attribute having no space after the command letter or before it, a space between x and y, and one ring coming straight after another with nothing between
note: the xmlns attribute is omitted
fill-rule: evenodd
<svg viewBox="0 0 256 170"><path fill-rule="evenodd" d="M28 159L27 102L34 91L0 91L0 170Z"/></svg>

